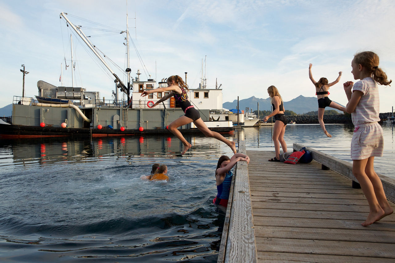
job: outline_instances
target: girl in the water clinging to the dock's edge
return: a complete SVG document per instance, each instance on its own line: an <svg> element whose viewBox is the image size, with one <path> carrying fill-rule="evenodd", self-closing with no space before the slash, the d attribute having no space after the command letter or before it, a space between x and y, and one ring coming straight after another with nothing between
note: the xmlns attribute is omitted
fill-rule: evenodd
<svg viewBox="0 0 395 263"><path fill-rule="evenodd" d="M236 153L229 159L228 156L222 155L218 159L217 168L215 170L215 181L217 185L217 195L213 200L216 205L228 206L230 184L232 182L233 173L231 169L238 161L250 162L250 157L242 153Z"/></svg>

